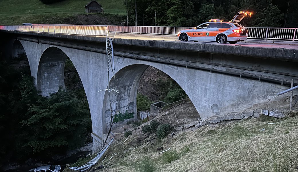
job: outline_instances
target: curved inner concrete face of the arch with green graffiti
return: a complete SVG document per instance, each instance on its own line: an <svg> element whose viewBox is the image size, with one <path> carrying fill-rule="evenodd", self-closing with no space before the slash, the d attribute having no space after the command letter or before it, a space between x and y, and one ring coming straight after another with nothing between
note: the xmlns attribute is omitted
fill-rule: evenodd
<svg viewBox="0 0 298 172"><path fill-rule="evenodd" d="M110 92L111 98L111 107L113 114L123 114L128 117L129 119L136 120L137 118L137 110L136 110L136 97L137 97L137 90L139 86L140 79L144 74L145 70L149 67L157 67L158 70L166 73L169 77L176 81L176 83L188 94L188 90L185 87L185 81L181 79L177 79L173 72L168 70L164 70L159 68L158 66L154 66L153 64L133 64L124 66L119 69L117 72L114 73L112 78L110 79L110 89L115 89L119 92L119 94L115 91ZM176 70L176 69L173 69ZM191 96L191 95L190 95ZM192 99L193 97L190 97ZM104 133L108 132L109 123L110 123L110 104L109 104L109 97L108 91L105 92L104 99L103 99L103 131ZM132 117L133 115L133 117ZM132 117L132 118L131 118ZM199 114L198 114L198 117ZM123 122L114 123L113 128L119 125L122 125Z"/></svg>

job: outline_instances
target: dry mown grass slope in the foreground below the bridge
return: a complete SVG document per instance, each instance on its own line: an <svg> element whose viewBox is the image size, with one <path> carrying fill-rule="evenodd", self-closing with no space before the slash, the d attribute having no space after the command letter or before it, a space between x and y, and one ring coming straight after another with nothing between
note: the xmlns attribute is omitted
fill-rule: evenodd
<svg viewBox="0 0 298 172"><path fill-rule="evenodd" d="M147 144L144 143L125 151L131 148L129 143L136 142L131 135L124 145L119 142L109 149L108 157L118 154L106 160L108 167L101 171L139 171L137 164L144 157L153 161L156 171L295 171L298 165L297 124L297 112L282 120L263 116L182 131L173 139L166 137L153 145L149 143L141 148ZM161 145L177 152L179 158L170 164L164 163L163 155L156 150Z"/></svg>

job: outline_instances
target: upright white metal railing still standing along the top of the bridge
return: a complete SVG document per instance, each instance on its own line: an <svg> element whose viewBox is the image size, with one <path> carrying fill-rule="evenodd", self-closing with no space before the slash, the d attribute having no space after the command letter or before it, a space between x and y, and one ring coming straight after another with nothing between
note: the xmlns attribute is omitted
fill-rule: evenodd
<svg viewBox="0 0 298 172"><path fill-rule="evenodd" d="M140 33L157 35L177 35L181 30L193 27L159 27L159 26L100 26L69 24L33 24L32 26L0 26L0 30L23 32L43 32L69 35L96 36L105 35L106 30L120 33ZM264 28L247 27L248 38L298 41L298 28Z"/></svg>

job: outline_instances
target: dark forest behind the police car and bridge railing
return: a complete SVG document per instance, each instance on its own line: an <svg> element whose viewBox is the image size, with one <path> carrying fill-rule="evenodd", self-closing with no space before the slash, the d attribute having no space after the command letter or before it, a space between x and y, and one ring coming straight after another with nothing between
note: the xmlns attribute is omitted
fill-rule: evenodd
<svg viewBox="0 0 298 172"><path fill-rule="evenodd" d="M128 25L197 26L211 18L230 21L249 11L246 27L298 27L298 0L123 0ZM137 20L136 20L137 18Z"/></svg>

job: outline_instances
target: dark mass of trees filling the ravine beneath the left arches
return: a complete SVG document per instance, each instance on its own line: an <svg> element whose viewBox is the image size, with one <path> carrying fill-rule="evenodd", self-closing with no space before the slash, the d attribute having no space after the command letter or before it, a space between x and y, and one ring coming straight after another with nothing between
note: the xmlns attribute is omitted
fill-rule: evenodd
<svg viewBox="0 0 298 172"><path fill-rule="evenodd" d="M73 68L68 59L67 89L42 97L28 64L0 61L0 157L5 157L0 166L28 158L48 161L85 144L91 133L90 111L78 75L69 72Z"/></svg>

